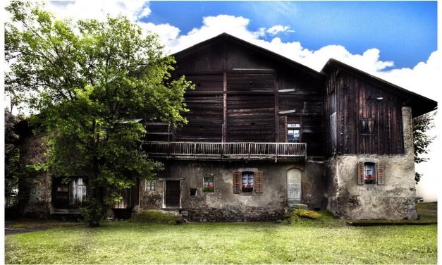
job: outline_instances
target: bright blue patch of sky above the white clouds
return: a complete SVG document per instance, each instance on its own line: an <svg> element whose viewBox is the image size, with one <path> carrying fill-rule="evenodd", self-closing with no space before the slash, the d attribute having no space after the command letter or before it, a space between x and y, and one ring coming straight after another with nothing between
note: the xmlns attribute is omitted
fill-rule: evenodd
<svg viewBox="0 0 442 265"><path fill-rule="evenodd" d="M377 48L395 68L412 68L437 49L436 1L151 1L149 8L143 22L168 23L180 34L200 27L206 16L243 16L251 31L290 26L295 32L276 36L310 50L342 45L362 54Z"/></svg>

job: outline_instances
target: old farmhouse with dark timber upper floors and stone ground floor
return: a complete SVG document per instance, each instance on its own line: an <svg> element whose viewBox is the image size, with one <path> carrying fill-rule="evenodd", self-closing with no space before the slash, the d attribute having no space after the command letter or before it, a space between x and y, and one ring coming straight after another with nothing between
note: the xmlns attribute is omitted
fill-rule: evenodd
<svg viewBox="0 0 442 265"><path fill-rule="evenodd" d="M436 101L334 59L317 72L228 34L173 56L173 75L196 87L185 95L189 123L145 124L142 144L165 170L125 190L119 211L258 221L305 204L347 219L417 218L412 118ZM22 147L23 162L42 159L41 136ZM78 213L87 183L33 178L25 214Z"/></svg>

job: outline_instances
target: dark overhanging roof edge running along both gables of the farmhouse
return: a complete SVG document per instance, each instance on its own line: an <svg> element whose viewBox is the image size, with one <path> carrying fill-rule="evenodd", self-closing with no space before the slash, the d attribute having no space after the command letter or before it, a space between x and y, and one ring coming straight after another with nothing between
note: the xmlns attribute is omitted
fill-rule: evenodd
<svg viewBox="0 0 442 265"><path fill-rule="evenodd" d="M353 75L357 75L360 78L364 78L365 80L369 80L369 82L374 82L376 85L379 86L379 88L386 90L388 92L391 92L393 94L397 94L398 97L403 97L407 99L406 106L412 107L412 113L413 117L422 115L424 113L427 113L429 111L433 111L437 108L437 102L426 98L420 94L417 94L415 92L411 92L409 90L405 90L403 87L399 87L398 85L394 85L391 82L387 82L386 80L383 80L381 78L377 78L374 75L370 75L369 73L365 73L362 70L359 70L357 68L354 68L352 66L348 66L345 63L342 63L336 59L330 58L329 61L327 61L326 65L322 68L320 72L317 72L316 70L313 70L312 68L309 68L301 63L298 63L296 61L293 61L285 56L282 56L281 54L276 54L274 51L269 51L268 49L264 49L262 47L259 47L255 44L252 44L250 42L246 42L243 39L240 39L238 37L234 37L232 35L229 35L227 33L222 33L216 37L213 37L211 39L207 39L204 42L199 42L192 47L189 47L187 49L183 49L182 51L178 51L176 54L172 54L172 56L175 57L182 57L182 56L189 56L190 54L195 53L195 51L198 51L199 49L203 49L204 47L208 47L212 44L215 44L217 42L223 42L223 41L231 41L233 43L243 45L247 47L247 49L253 49L254 51L257 51L258 53L271 56L272 59L275 61L278 61L279 63L286 64L287 66L296 68L297 70L302 71L305 74L310 75L313 78L321 79L324 78L324 75L331 69L331 68L343 68L344 70L347 70L348 72L352 73Z"/></svg>

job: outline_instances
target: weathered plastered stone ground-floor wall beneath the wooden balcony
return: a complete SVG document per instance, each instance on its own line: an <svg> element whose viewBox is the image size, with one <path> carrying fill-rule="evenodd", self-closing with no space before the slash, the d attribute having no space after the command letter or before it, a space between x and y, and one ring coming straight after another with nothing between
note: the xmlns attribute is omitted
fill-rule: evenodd
<svg viewBox="0 0 442 265"><path fill-rule="evenodd" d="M145 191L140 184L140 207L166 207L163 187L166 180L180 180L180 209L189 221L269 221L281 218L287 206L287 171L302 171L302 202L321 208L324 196L323 165L274 161L168 161L159 173L156 190ZM234 171L261 171L263 192L233 193ZM214 192L203 192L204 175L214 177ZM190 190L196 190L195 195Z"/></svg>

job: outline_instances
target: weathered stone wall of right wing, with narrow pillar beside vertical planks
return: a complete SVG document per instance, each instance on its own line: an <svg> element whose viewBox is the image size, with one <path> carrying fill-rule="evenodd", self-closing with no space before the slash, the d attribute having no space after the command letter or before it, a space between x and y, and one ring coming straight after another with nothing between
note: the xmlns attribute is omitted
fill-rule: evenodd
<svg viewBox="0 0 442 265"><path fill-rule="evenodd" d="M416 219L415 163L410 108L403 108L405 154L340 155L326 161L327 210L345 219ZM384 164L385 184L357 185L357 162Z"/></svg>

